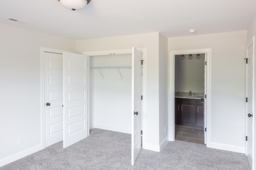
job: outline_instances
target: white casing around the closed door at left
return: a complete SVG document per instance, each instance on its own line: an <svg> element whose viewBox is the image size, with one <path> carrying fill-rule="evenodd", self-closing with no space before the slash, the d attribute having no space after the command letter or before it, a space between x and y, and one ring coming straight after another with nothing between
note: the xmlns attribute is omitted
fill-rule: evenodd
<svg viewBox="0 0 256 170"><path fill-rule="evenodd" d="M48 53L58 53L62 54L63 52L74 53L73 51L66 51L60 49L52 49L47 47L40 47L40 115L41 115L41 143L42 149L45 149L45 109L44 109L44 52Z"/></svg>

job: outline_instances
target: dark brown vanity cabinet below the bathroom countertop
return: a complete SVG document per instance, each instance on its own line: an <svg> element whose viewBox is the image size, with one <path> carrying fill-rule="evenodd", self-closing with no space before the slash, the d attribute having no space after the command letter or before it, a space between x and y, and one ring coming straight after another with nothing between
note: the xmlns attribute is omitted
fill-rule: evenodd
<svg viewBox="0 0 256 170"><path fill-rule="evenodd" d="M204 100L175 98L175 123L204 127Z"/></svg>

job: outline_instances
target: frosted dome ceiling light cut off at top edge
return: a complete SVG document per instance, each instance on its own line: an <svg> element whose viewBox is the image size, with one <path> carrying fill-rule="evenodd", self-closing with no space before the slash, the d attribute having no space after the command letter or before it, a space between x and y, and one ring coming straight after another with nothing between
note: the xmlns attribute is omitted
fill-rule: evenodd
<svg viewBox="0 0 256 170"><path fill-rule="evenodd" d="M91 0L58 0L60 4L69 10L82 10Z"/></svg>

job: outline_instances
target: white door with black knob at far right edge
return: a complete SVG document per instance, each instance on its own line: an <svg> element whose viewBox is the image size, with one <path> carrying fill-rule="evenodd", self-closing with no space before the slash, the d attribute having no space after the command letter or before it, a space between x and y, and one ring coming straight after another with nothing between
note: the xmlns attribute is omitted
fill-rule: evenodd
<svg viewBox="0 0 256 170"><path fill-rule="evenodd" d="M247 44L246 53L246 154L251 168L254 169L254 36Z"/></svg>

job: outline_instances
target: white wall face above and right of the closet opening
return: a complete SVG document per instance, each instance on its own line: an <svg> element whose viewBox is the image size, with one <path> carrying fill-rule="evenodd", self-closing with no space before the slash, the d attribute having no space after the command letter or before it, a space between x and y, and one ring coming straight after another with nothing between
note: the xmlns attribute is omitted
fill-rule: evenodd
<svg viewBox="0 0 256 170"><path fill-rule="evenodd" d="M127 35L76 41L77 50L101 51L111 49L146 48L146 146L159 150L159 33Z"/></svg>

